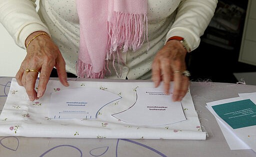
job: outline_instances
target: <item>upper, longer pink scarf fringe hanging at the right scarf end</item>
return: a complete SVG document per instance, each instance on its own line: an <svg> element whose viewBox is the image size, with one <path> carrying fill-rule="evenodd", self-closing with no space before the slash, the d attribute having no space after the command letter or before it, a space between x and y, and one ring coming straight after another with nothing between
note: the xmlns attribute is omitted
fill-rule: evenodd
<svg viewBox="0 0 256 157"><path fill-rule="evenodd" d="M107 22L108 43L106 59L112 52L128 49L136 51L147 38L147 16L144 14L114 12L113 20Z"/></svg>

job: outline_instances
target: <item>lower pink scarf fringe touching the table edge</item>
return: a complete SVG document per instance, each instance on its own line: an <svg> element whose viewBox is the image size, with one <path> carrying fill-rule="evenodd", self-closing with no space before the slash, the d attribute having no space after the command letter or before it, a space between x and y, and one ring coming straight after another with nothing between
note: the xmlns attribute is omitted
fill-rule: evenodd
<svg viewBox="0 0 256 157"><path fill-rule="evenodd" d="M92 69L91 64L86 64L82 62L80 59L77 61L76 73L78 74L79 78L104 78L105 69L97 73L92 72L91 69Z"/></svg>

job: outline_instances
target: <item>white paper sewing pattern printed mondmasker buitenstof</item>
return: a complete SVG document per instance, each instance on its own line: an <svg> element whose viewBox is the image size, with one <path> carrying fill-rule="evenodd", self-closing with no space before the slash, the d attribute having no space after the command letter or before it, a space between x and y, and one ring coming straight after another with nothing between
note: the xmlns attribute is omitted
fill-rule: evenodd
<svg viewBox="0 0 256 157"><path fill-rule="evenodd" d="M162 88L137 88L136 102L113 117L132 125L160 126L186 120L180 102L173 102L172 93Z"/></svg>

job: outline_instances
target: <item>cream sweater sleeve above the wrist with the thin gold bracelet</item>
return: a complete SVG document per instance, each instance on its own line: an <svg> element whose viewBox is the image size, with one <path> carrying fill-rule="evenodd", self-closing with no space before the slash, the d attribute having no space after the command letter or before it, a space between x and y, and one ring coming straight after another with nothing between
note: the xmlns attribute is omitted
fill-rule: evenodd
<svg viewBox="0 0 256 157"><path fill-rule="evenodd" d="M34 31L49 33L40 20L34 3L36 0L0 0L0 22L14 39L25 49L25 39Z"/></svg>

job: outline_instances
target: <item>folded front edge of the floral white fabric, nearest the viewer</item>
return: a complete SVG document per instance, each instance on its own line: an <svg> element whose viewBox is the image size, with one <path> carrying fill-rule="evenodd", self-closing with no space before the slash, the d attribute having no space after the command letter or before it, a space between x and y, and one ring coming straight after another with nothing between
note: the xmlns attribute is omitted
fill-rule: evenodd
<svg viewBox="0 0 256 157"><path fill-rule="evenodd" d="M29 129L26 129L29 128ZM155 128L107 129L84 126L10 125L0 126L0 136L31 138L95 138L95 139L154 139L154 140L206 140L206 132Z"/></svg>

